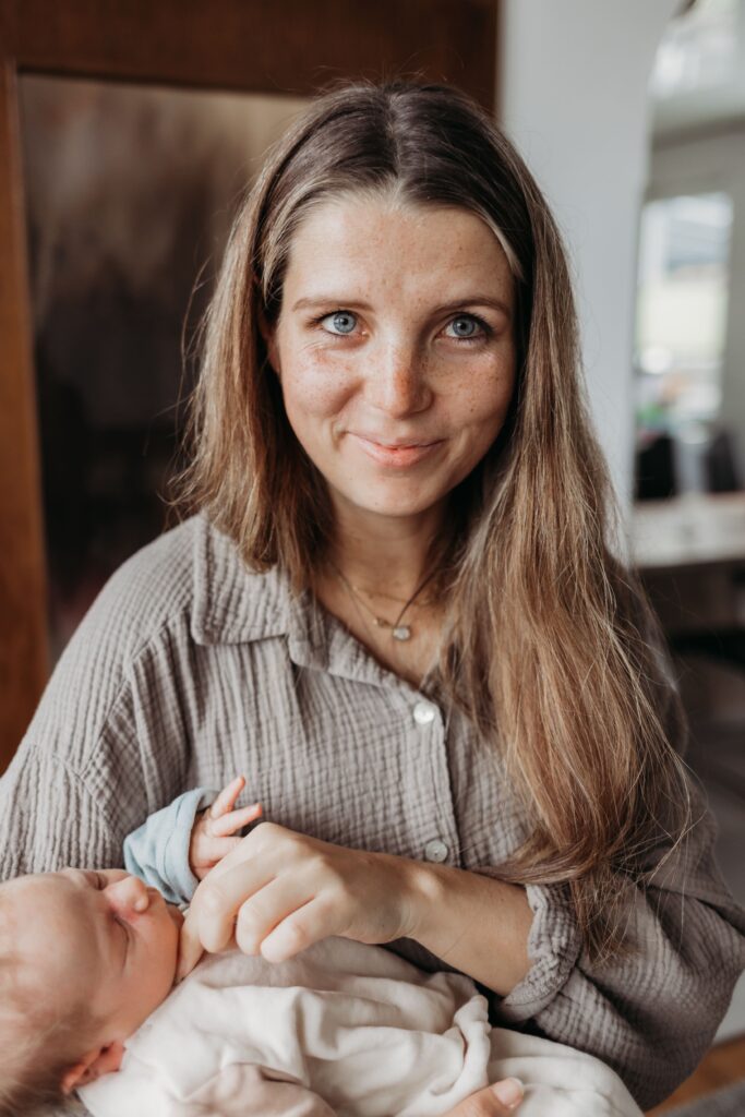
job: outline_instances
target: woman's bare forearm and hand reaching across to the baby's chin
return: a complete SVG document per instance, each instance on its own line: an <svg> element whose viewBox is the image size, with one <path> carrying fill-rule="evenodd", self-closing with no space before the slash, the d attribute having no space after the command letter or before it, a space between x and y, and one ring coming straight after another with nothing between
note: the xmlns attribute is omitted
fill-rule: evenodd
<svg viewBox="0 0 745 1117"><path fill-rule="evenodd" d="M233 933L245 953L273 962L329 935L361 943L416 938L441 958L447 951L456 968L505 995L529 968L531 923L522 888L266 822L197 889L180 972L189 972L202 948L222 949Z"/></svg>

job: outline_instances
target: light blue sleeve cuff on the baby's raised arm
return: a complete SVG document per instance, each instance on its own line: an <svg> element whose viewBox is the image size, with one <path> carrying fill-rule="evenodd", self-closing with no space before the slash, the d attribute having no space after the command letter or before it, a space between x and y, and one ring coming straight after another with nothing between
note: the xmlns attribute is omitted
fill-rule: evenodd
<svg viewBox="0 0 745 1117"><path fill-rule="evenodd" d="M189 865L197 813L211 806L217 791L194 787L155 811L124 840L124 868L157 888L169 904L189 904L199 881Z"/></svg>

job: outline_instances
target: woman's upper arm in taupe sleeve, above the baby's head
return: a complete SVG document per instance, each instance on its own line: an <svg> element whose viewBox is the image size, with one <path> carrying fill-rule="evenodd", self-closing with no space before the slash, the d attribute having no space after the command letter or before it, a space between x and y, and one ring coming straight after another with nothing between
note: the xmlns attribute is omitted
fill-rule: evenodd
<svg viewBox="0 0 745 1117"><path fill-rule="evenodd" d="M113 575L57 663L0 780L0 879L121 866L125 834L183 790L189 618L163 590L170 547Z"/></svg>

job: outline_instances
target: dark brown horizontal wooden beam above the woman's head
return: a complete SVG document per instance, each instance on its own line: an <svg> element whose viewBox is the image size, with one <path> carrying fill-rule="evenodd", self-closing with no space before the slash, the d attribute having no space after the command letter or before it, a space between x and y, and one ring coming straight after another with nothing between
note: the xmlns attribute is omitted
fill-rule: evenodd
<svg viewBox="0 0 745 1117"><path fill-rule="evenodd" d="M493 0L22 0L12 52L56 74L311 93L421 70L494 103Z"/></svg>

